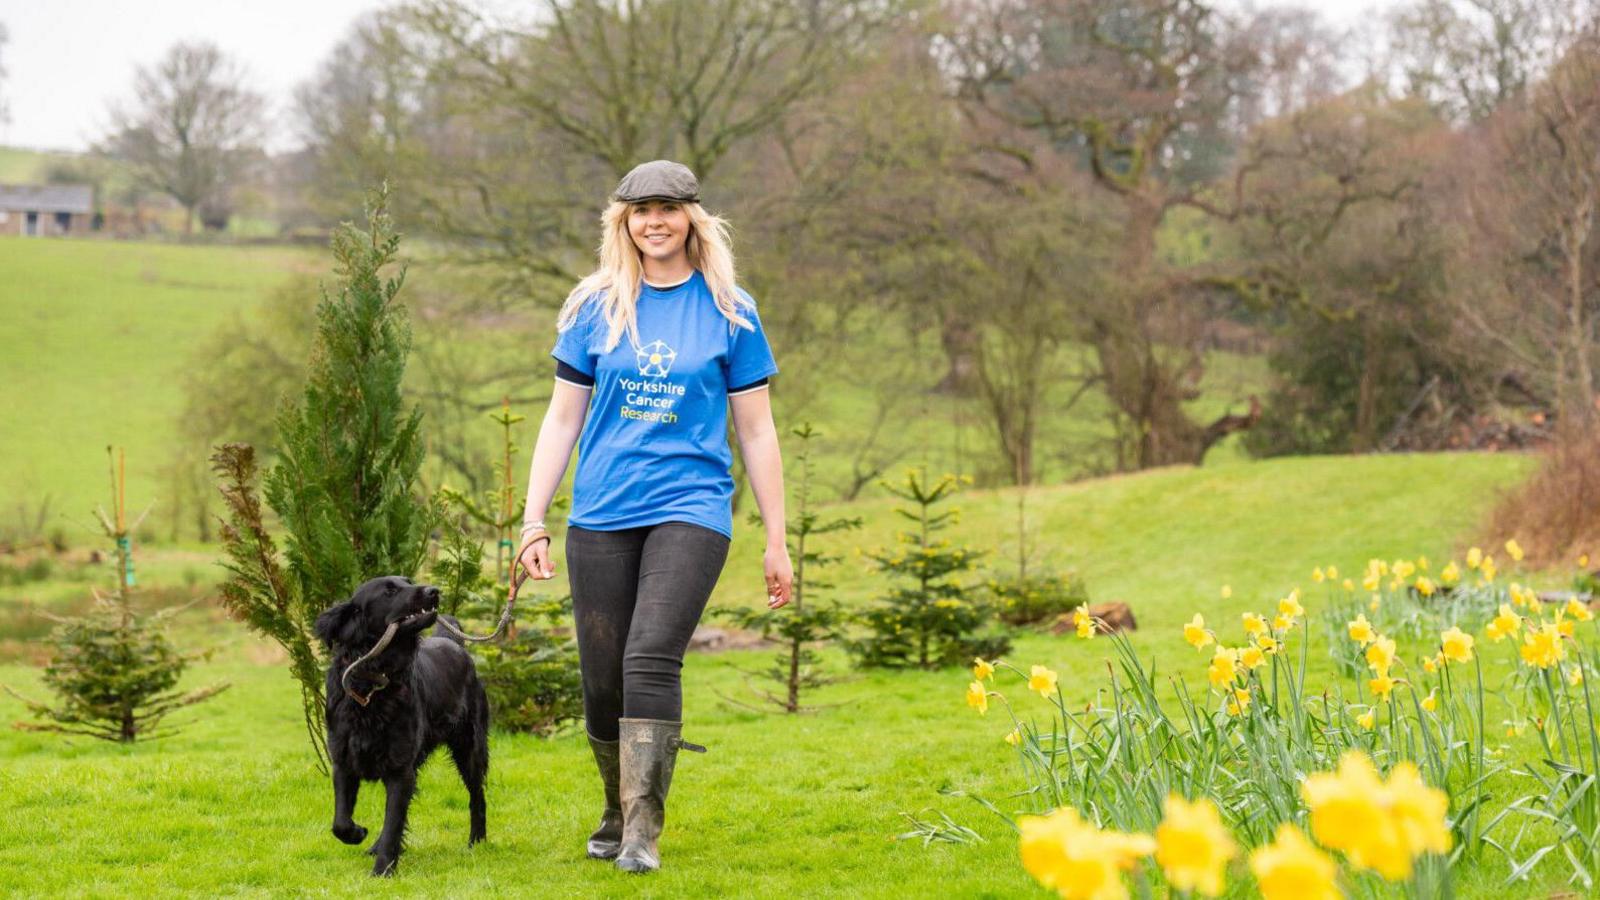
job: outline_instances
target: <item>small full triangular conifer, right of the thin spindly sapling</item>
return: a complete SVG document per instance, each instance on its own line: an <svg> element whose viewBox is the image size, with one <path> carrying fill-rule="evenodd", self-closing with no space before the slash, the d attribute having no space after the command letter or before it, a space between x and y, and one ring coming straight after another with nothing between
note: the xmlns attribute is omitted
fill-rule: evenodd
<svg viewBox="0 0 1600 900"><path fill-rule="evenodd" d="M896 512L915 522L915 530L896 532L899 546L866 551L877 570L899 585L859 615L869 634L850 644L858 665L933 669L973 657L995 658L1010 649L1005 634L990 628L989 602L958 581L982 554L936 536L960 520L958 508L938 508L963 480L970 479L946 474L930 482L926 469L910 469L899 485L878 482L907 503Z"/></svg>

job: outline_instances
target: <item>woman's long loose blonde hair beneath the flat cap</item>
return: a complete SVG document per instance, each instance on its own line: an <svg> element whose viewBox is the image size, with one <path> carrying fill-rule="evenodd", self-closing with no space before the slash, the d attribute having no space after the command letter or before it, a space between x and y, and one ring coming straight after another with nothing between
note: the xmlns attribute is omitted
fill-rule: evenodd
<svg viewBox="0 0 1600 900"><path fill-rule="evenodd" d="M622 333L638 348L638 285L645 277L643 255L634 245L627 231L627 215L642 203L613 200L600 213L600 267L578 282L566 295L562 311L555 315L555 328L565 331L578 320L584 303L595 301L605 314L610 331L605 352L611 352ZM739 307L755 309L755 304L734 287L733 250L728 242L728 223L707 213L699 203L680 203L690 216L690 235L683 245L690 266L706 275L717 309L728 319L728 330L755 330Z"/></svg>

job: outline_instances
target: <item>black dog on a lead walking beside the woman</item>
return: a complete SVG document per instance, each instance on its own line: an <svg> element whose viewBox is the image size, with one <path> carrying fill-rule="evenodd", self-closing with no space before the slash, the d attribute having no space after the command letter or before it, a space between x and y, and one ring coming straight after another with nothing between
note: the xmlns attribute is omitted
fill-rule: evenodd
<svg viewBox="0 0 1600 900"><path fill-rule="evenodd" d="M384 830L368 850L373 874L400 862L406 807L416 772L438 745L450 748L470 794L472 831L483 839L483 780L490 770L490 705L464 645L419 637L438 618L438 588L406 578L373 578L349 601L317 617L317 636L333 652L328 669L328 757L333 762L333 834L360 844L366 830L350 820L362 781L387 791ZM344 669L397 631L379 655L344 679Z"/></svg>

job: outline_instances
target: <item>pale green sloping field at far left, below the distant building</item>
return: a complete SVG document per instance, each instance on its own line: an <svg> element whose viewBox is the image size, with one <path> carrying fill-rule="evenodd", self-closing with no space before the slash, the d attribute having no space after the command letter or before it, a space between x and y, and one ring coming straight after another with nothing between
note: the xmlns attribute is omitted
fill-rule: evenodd
<svg viewBox="0 0 1600 900"><path fill-rule="evenodd" d="M0 516L48 496L53 524L91 520L109 503L107 444L126 448L130 509L160 498L190 348L310 261L290 248L0 237Z"/></svg>

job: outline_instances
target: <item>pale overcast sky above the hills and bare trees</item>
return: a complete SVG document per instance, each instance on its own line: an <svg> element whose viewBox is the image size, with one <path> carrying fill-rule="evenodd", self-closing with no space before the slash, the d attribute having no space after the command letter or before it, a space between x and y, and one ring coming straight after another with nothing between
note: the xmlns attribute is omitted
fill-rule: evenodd
<svg viewBox="0 0 1600 900"><path fill-rule="evenodd" d="M1243 0L1235 0L1243 2ZM1398 0L1301 0L1341 26ZM1256 0L1290 5L1291 0ZM0 91L11 122L0 144L83 151L106 127L106 104L130 93L136 66L179 40L210 40L242 61L278 112L274 149L294 144L283 115L296 85L366 10L384 0L0 0L11 40ZM496 3L499 5L499 3ZM510 6L512 3L506 3ZM1229 3L1234 5L1234 3Z"/></svg>

